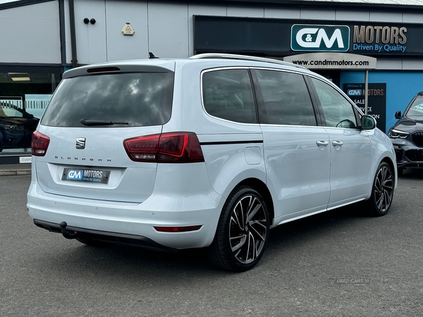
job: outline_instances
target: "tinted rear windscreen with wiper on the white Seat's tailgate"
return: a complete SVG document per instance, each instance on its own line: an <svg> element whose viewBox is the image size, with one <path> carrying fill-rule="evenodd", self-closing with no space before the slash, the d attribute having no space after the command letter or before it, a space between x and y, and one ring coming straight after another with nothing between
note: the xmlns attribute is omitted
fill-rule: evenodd
<svg viewBox="0 0 423 317"><path fill-rule="evenodd" d="M173 73L114 73L62 80L41 124L56 127L162 125L171 118Z"/></svg>

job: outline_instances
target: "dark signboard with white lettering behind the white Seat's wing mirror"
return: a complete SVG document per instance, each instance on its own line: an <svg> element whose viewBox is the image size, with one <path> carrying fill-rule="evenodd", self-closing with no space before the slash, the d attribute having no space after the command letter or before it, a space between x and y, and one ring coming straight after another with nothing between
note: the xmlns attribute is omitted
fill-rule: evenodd
<svg viewBox="0 0 423 317"><path fill-rule="evenodd" d="M364 83L344 84L343 91L364 113ZM386 132L386 83L369 83L367 114L376 119L377 128Z"/></svg>

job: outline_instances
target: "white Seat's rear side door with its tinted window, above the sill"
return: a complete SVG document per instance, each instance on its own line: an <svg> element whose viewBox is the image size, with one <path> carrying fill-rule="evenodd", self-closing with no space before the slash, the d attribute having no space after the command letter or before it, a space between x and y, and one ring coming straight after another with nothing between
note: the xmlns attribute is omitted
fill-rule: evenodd
<svg viewBox="0 0 423 317"><path fill-rule="evenodd" d="M297 73L253 72L264 139L267 183L276 223L323 211L329 201L329 136L317 126L305 79Z"/></svg>

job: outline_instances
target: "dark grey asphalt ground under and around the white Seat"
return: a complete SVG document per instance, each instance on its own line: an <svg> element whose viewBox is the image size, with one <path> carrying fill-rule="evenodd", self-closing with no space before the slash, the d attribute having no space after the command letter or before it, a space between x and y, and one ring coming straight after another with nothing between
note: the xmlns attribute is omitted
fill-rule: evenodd
<svg viewBox="0 0 423 317"><path fill-rule="evenodd" d="M0 316L422 316L423 170L405 170L391 211L358 205L271 230L251 271L176 254L87 247L37 228L30 175L0 178Z"/></svg>

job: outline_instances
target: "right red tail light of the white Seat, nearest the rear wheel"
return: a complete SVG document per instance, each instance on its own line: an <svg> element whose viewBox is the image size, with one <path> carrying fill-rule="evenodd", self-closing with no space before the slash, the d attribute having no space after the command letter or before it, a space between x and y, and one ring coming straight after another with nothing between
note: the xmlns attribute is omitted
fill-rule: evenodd
<svg viewBox="0 0 423 317"><path fill-rule="evenodd" d="M123 147L136 162L204 162L200 141L193 132L173 132L125 139Z"/></svg>

